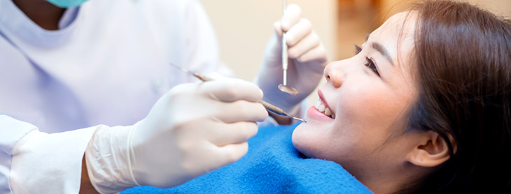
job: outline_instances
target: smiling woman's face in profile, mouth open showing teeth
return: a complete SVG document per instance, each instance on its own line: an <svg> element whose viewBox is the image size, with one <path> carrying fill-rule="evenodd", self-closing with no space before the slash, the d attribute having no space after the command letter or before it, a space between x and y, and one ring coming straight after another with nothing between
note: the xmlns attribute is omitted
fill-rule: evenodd
<svg viewBox="0 0 511 194"><path fill-rule="evenodd" d="M405 15L393 15L370 33L354 57L326 66L318 103L307 111L307 124L293 132L293 144L305 156L335 161L363 183L398 165L403 145L411 144L400 132L417 96L409 69L416 18L403 25Z"/></svg>

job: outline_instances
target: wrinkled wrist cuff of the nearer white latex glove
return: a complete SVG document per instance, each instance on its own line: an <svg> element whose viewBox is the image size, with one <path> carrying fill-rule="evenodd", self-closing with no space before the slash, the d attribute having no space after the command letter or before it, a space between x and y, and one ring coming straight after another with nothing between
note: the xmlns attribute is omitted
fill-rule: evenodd
<svg viewBox="0 0 511 194"><path fill-rule="evenodd" d="M130 159L132 126L99 126L85 149L92 186L99 193L118 193L139 186Z"/></svg>

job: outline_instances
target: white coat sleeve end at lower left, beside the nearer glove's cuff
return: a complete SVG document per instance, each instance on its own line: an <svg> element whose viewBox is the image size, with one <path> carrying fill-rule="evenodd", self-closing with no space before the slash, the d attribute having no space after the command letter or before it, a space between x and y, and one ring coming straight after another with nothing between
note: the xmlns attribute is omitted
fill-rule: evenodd
<svg viewBox="0 0 511 194"><path fill-rule="evenodd" d="M78 193L95 128L48 134L0 115L0 193Z"/></svg>

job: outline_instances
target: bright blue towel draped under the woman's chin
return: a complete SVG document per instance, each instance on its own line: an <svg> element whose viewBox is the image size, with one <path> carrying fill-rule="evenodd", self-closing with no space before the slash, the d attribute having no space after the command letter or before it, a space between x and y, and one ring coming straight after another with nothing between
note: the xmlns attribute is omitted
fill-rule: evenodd
<svg viewBox="0 0 511 194"><path fill-rule="evenodd" d="M139 186L121 193L372 193L341 165L304 158L293 147L292 126L259 128L236 163L174 188Z"/></svg>

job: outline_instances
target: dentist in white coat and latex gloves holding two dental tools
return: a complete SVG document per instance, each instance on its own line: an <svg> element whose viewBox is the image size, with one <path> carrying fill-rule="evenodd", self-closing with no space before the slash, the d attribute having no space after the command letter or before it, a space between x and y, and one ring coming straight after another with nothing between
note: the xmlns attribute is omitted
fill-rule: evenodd
<svg viewBox="0 0 511 194"><path fill-rule="evenodd" d="M233 74L196 0L84 1L0 1L0 193L183 184L246 154L267 117L259 100L299 112L325 66L295 5L253 84L193 82L169 66ZM297 96L275 91L282 31L290 83L307 83Z"/></svg>

